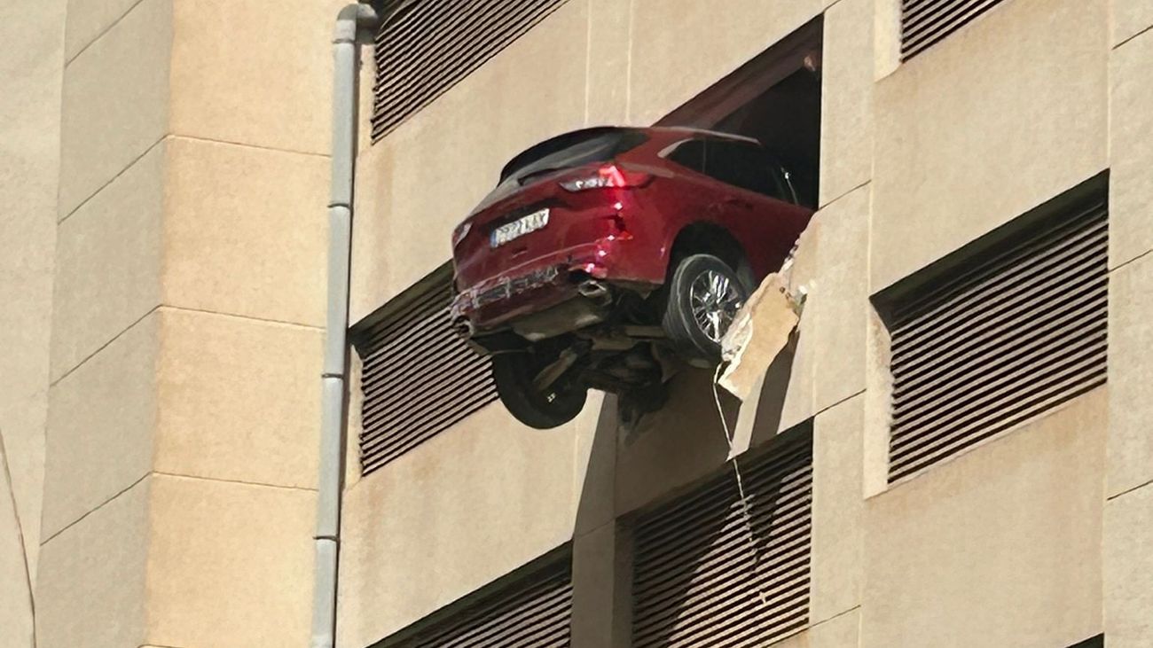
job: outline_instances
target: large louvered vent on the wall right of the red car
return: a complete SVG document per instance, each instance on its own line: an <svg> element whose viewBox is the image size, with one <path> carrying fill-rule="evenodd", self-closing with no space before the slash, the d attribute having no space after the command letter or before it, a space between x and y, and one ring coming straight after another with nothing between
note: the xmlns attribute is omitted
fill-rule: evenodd
<svg viewBox="0 0 1153 648"><path fill-rule="evenodd" d="M1105 382L1108 236L1094 198L896 304L890 481Z"/></svg>

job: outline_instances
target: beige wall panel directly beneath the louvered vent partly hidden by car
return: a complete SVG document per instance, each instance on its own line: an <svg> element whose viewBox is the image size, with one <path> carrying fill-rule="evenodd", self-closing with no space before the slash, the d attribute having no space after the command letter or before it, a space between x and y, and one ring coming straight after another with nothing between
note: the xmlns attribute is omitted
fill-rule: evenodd
<svg viewBox="0 0 1153 648"><path fill-rule="evenodd" d="M492 404L356 482L345 497L340 646L368 646L567 542L576 437L597 414L586 407L541 431Z"/></svg>

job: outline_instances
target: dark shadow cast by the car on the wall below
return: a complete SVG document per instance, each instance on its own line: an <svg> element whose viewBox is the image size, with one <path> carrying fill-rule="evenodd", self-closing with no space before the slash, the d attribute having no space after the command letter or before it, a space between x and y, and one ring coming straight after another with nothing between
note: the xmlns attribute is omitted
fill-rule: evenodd
<svg viewBox="0 0 1153 648"><path fill-rule="evenodd" d="M736 439L738 451L746 447L764 446L778 435L778 424L785 402L785 394L792 374L793 356L798 336L794 333L790 344L777 355L768 369L762 385L760 399L755 407L755 420L744 430L745 438ZM734 515L743 513L732 506L737 488L732 469L726 459L729 443L724 437L717 407L713 395L713 372L708 370L688 370L679 374L670 382L669 402L660 412L647 415L638 429L626 435L618 427L617 399L605 395L591 440L588 466L581 487L576 508L574 542L580 543L581 536L606 523L615 525L615 542L612 544L611 589L613 590L613 610L611 625L613 635L623 635L613 645L627 645L631 634L632 615L653 613L649 609L634 610L634 587L648 587L650 577L641 577L646 582L634 582L634 534L639 517L654 511L669 514L665 508L673 507L672 500L695 489L708 488L710 483L719 483L724 493L717 504L703 511L684 510L672 515L692 517L694 529L691 541L680 549L680 556L687 556L672 570L662 573L661 615L669 617L669 610L687 608L696 600L699 593L692 586L699 582L701 570L706 570L706 556L717 549L718 542L725 542L726 532L731 535ZM721 405L730 431L737 430L737 416L740 402L719 391ZM745 415L751 415L751 412ZM745 427L745 425L743 425ZM768 528L773 525L776 513L777 497L773 489L758 496L752 514L759 520L758 527ZM768 506L768 508L766 508ZM743 522L741 522L743 523ZM578 549L574 553L580 555ZM596 555L600 560L609 557ZM684 558L683 558L684 559ZM606 565L586 566L574 563L574 570L588 567L590 571L602 571ZM580 582L581 575L574 574L574 582ZM608 583L601 583L610 587ZM595 608L604 613L604 602L586 605L580 601L588 590L574 589L574 606L581 610ZM604 594L602 589L598 594ZM679 618L680 612L671 612L672 618ZM608 618L598 621L609 625ZM578 621L576 625L580 625ZM600 624L598 624L600 625ZM666 632L663 628L656 634ZM655 643L653 643L655 641ZM661 636L646 636L646 645L661 645Z"/></svg>

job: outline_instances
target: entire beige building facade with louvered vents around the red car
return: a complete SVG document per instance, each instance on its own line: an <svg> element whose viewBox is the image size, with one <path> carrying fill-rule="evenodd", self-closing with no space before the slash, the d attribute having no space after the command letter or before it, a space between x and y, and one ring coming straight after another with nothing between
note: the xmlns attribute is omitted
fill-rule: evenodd
<svg viewBox="0 0 1153 648"><path fill-rule="evenodd" d="M342 3L0 9L3 646L308 641ZM384 16L338 646L1153 646L1153 2ZM447 330L450 236L602 123L778 151L807 301L744 402L686 371L532 430Z"/></svg>

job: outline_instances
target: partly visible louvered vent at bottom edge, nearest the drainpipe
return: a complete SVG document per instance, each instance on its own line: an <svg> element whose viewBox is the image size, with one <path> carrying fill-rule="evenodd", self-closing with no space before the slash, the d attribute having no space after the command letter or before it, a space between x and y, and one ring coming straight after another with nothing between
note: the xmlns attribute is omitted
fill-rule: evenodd
<svg viewBox="0 0 1153 648"><path fill-rule="evenodd" d="M398 642L397 648L560 648L570 645L572 578L568 563L529 577L450 613Z"/></svg>

